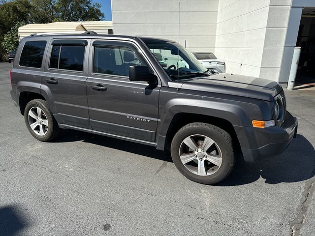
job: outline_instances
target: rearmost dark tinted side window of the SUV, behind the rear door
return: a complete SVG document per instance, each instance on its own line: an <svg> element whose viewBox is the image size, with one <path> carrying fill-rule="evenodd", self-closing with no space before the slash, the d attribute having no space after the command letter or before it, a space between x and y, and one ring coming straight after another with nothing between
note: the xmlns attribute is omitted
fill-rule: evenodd
<svg viewBox="0 0 315 236"><path fill-rule="evenodd" d="M40 68L45 52L46 41L30 41L24 44L20 66Z"/></svg>

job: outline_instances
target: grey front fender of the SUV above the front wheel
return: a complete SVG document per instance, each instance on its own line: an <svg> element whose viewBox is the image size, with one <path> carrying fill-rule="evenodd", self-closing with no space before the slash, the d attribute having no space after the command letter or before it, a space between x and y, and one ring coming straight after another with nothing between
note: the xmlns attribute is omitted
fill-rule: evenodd
<svg viewBox="0 0 315 236"><path fill-rule="evenodd" d="M241 148L249 142L244 138L243 130L252 127L252 120L272 119L271 102L233 96L228 94L209 93L195 90L162 88L159 98L159 119L157 130L158 149L164 149L169 126L176 114L194 114L221 118L234 128ZM211 120L209 118L209 123ZM241 138L241 139L240 139Z"/></svg>

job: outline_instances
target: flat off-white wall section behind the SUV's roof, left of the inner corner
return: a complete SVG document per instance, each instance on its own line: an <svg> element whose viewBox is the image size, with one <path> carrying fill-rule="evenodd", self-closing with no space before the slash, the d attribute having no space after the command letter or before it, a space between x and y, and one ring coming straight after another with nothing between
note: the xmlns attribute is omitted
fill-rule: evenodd
<svg viewBox="0 0 315 236"><path fill-rule="evenodd" d="M180 43L194 51L214 51L219 0L181 0ZM178 0L113 0L115 34L178 41Z"/></svg>

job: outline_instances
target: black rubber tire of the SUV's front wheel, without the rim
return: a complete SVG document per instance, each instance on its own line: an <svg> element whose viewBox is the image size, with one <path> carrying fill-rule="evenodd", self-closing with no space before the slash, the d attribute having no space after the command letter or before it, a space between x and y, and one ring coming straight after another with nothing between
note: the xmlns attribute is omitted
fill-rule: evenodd
<svg viewBox="0 0 315 236"><path fill-rule="evenodd" d="M191 135L203 135L211 138L221 150L221 166L209 176L192 173L180 159L182 142ZM192 136L194 137L194 136ZM189 149L190 150L190 149ZM207 150L206 150L207 151ZM230 175L234 167L234 154L231 136L223 129L208 123L190 123L182 127L174 136L171 143L171 156L176 168L187 178L202 184L215 184ZM196 158L197 160L198 158ZM211 164L210 162L207 162ZM192 163L194 164L194 163ZM196 164L197 165L197 164Z"/></svg>

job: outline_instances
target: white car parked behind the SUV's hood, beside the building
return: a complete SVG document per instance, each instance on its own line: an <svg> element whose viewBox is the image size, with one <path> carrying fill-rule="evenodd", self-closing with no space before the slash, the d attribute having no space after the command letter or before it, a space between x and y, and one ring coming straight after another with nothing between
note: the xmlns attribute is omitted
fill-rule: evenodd
<svg viewBox="0 0 315 236"><path fill-rule="evenodd" d="M219 73L225 73L225 62L217 59L211 52L196 52L192 53L201 64L209 70L216 70Z"/></svg>

